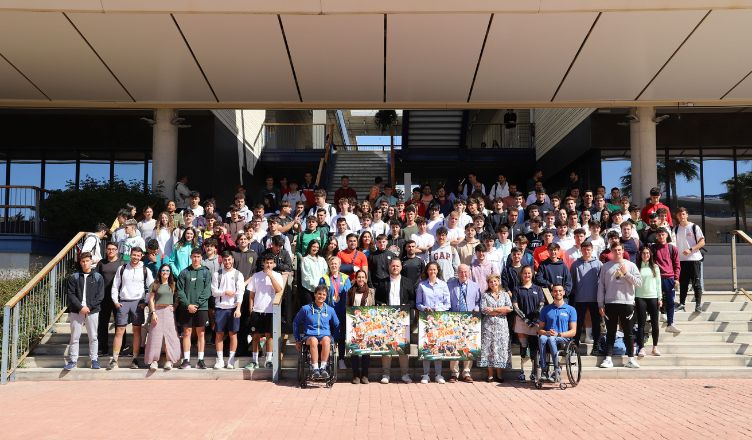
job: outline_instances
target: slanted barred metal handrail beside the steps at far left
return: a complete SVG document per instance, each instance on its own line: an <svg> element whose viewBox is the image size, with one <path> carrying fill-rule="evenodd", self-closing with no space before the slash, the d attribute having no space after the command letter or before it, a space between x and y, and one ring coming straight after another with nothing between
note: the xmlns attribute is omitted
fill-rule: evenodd
<svg viewBox="0 0 752 440"><path fill-rule="evenodd" d="M15 379L15 371L40 337L50 331L66 308L65 281L75 269L76 234L55 257L3 307L0 383ZM11 326L12 324L12 326Z"/></svg>

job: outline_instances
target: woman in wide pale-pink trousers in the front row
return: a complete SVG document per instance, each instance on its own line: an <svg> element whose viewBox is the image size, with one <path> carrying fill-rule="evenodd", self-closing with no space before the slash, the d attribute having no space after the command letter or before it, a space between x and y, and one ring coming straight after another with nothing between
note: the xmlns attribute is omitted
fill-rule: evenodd
<svg viewBox="0 0 752 440"><path fill-rule="evenodd" d="M168 264L159 268L159 278L149 289L149 310L151 310L151 325L149 338L146 340L144 362L154 371L158 367L162 353L162 343L165 346L167 361L165 370L171 370L172 365L180 360L180 340L175 330L175 277Z"/></svg>

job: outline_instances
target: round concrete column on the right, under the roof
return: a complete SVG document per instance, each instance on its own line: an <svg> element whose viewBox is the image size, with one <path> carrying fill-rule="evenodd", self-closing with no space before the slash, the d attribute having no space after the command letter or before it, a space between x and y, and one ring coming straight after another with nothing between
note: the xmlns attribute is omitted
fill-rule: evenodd
<svg viewBox="0 0 752 440"><path fill-rule="evenodd" d="M632 156L632 203L645 206L650 188L658 184L655 141L655 108L638 107L630 115L635 118L629 127Z"/></svg>

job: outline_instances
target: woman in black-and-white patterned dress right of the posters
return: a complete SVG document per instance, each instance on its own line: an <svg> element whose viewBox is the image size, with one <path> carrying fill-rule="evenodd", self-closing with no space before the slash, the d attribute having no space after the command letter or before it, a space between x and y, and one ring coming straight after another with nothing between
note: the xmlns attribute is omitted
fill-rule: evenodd
<svg viewBox="0 0 752 440"><path fill-rule="evenodd" d="M512 300L507 292L501 290L501 277L491 274L487 278L488 291L480 299L481 352L479 367L488 368L488 382L504 382L502 370L512 364L512 347L509 341L507 314L512 311Z"/></svg>

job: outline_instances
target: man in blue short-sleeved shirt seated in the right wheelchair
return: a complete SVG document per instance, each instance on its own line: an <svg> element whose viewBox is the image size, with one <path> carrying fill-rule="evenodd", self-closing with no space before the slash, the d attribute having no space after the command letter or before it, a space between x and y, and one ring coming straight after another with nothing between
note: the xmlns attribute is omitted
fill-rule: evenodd
<svg viewBox="0 0 752 440"><path fill-rule="evenodd" d="M554 301L543 307L540 312L538 323L538 353L540 361L536 368L536 382L540 382L541 372L547 366L547 355L551 355L554 365L554 382L561 382L561 367L559 366L559 346L562 349L574 337L577 332L577 312L574 307L564 302L564 286L554 284L551 287L551 296Z"/></svg>

